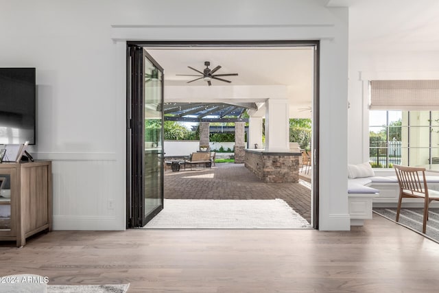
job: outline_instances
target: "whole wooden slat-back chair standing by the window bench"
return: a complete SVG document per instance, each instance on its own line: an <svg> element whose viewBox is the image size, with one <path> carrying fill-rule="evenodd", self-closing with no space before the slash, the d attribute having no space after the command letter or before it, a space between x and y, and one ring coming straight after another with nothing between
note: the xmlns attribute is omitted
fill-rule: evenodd
<svg viewBox="0 0 439 293"><path fill-rule="evenodd" d="M398 209L396 222L399 221L399 212L403 198L424 198L423 233L427 228L428 207L433 200L439 200L439 191L428 189L425 180L425 168L405 167L393 165L399 183Z"/></svg>

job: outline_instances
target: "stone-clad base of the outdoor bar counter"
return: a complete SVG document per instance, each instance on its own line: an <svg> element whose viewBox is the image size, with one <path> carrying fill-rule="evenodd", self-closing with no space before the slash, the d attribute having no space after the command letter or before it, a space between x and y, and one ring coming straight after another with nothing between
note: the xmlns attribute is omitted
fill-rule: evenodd
<svg viewBox="0 0 439 293"><path fill-rule="evenodd" d="M298 183L300 153L246 150L245 166L265 183Z"/></svg>

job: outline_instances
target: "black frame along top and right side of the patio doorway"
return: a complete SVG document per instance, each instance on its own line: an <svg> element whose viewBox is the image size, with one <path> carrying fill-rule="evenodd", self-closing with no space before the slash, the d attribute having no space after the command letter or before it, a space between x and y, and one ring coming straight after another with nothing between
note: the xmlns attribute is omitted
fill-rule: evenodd
<svg viewBox="0 0 439 293"><path fill-rule="evenodd" d="M314 47L313 103L312 103L312 202L311 219L313 228L319 228L319 147L320 147L320 40L139 40L127 41L139 47ZM130 71L127 71L130 73ZM129 75L129 74L127 74ZM128 87L127 87L128 91ZM128 113L127 113L128 114ZM128 165L128 161L127 161ZM127 182L128 185L128 182ZM127 187L128 189L128 187ZM127 212L128 205L127 201ZM128 218L128 214L127 214Z"/></svg>

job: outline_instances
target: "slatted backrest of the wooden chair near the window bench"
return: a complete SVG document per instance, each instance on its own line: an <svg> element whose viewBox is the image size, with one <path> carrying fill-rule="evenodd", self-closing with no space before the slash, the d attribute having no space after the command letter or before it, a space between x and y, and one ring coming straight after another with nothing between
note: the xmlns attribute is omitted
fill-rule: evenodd
<svg viewBox="0 0 439 293"><path fill-rule="evenodd" d="M428 196L427 180L425 180L425 168L393 165L398 178L399 189L405 194Z"/></svg>

